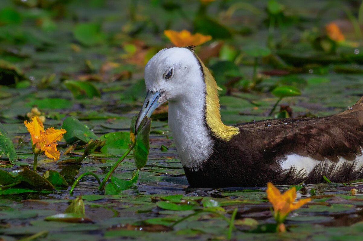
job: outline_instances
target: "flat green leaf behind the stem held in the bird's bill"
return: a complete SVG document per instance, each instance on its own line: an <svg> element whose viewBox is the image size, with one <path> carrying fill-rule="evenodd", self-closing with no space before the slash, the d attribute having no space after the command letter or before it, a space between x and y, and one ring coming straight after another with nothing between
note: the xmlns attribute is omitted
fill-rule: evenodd
<svg viewBox="0 0 363 241"><path fill-rule="evenodd" d="M100 136L99 139L106 141L105 145L101 148L102 153L109 155L122 155L123 152L129 149L130 132L111 132Z"/></svg>

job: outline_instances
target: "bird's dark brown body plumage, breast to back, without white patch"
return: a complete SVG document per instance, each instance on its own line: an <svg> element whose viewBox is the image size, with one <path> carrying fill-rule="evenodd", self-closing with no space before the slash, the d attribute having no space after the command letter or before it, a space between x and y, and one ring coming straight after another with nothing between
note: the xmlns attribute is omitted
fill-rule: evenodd
<svg viewBox="0 0 363 241"><path fill-rule="evenodd" d="M270 119L238 124L240 133L229 141L210 135L214 152L198 171L184 168L192 187L265 186L323 182L346 182L363 176L355 169L362 156L363 97L343 113L322 118ZM306 175L297 169L281 170L287 155L309 156L321 164ZM339 168L329 165L343 157ZM330 161L328 161L328 160Z"/></svg>

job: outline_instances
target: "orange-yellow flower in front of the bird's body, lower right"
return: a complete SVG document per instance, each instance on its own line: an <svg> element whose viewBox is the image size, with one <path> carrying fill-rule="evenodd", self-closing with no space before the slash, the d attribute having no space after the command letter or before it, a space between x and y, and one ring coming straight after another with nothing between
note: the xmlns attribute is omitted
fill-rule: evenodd
<svg viewBox="0 0 363 241"><path fill-rule="evenodd" d="M278 224L282 223L289 212L298 209L303 206L305 203L309 202L310 198L300 199L298 202L295 202L296 198L296 188L293 187L287 190L284 194L281 194L280 191L271 183L267 183L267 198L272 204L274 210L274 218Z"/></svg>

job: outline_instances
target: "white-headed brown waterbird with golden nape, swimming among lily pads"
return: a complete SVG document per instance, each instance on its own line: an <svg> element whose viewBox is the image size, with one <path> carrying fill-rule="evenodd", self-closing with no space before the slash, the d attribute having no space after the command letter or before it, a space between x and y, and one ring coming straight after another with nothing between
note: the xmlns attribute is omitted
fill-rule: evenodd
<svg viewBox="0 0 363 241"><path fill-rule="evenodd" d="M190 187L261 187L363 177L363 97L328 117L227 126L215 79L192 47L164 48L146 64L136 120L168 101L168 125Z"/></svg>

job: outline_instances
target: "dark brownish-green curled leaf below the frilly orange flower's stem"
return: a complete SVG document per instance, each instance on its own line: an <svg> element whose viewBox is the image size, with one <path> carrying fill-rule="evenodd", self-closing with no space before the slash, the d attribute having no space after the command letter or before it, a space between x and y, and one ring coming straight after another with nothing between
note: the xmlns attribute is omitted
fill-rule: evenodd
<svg viewBox="0 0 363 241"><path fill-rule="evenodd" d="M25 182L36 190L53 190L54 186L47 179L40 176L38 173L30 170L28 167L23 167L20 170L13 171L14 178L18 181ZM20 184L21 185L21 184Z"/></svg>

